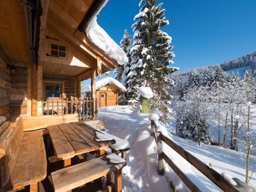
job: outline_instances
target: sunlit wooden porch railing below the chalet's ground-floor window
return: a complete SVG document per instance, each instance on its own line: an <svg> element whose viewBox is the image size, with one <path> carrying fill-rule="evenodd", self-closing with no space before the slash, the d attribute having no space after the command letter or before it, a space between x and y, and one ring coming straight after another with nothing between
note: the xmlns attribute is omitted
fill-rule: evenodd
<svg viewBox="0 0 256 192"><path fill-rule="evenodd" d="M94 110L94 102L96 109ZM43 115L67 115L78 114L79 120L88 120L94 117L94 112L97 118L97 99L89 97L61 99L56 97L48 97L43 101Z"/></svg>

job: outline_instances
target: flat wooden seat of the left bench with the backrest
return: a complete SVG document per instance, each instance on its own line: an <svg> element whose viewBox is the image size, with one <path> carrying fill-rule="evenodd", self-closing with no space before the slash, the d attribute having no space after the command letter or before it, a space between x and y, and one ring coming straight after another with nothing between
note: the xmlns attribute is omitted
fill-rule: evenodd
<svg viewBox="0 0 256 192"><path fill-rule="evenodd" d="M44 180L47 174L47 160L42 131L23 134L17 161L10 174L8 190L22 188Z"/></svg>

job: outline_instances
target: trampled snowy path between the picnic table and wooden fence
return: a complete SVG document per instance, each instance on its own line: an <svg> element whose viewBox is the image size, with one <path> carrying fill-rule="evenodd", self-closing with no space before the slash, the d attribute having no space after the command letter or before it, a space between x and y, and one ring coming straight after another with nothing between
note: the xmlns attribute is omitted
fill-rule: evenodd
<svg viewBox="0 0 256 192"><path fill-rule="evenodd" d="M157 174L157 145L150 136L148 115L132 118L127 107L105 107L99 110L99 119L108 133L126 139L131 145L127 166L123 169L123 190L128 192L170 191L170 183Z"/></svg>

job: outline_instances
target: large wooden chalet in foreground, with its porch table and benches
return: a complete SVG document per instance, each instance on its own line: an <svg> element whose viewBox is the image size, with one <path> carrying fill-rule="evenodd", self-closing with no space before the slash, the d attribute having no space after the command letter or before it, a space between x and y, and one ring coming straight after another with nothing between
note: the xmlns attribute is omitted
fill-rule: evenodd
<svg viewBox="0 0 256 192"><path fill-rule="evenodd" d="M105 0L1 1L0 191L26 186L37 191L37 184L49 175L50 149L69 166L51 174L54 191L70 191L106 175L110 190L112 172L115 191L121 191L124 162L112 165L104 156L113 141L95 142L94 128L78 121L97 118L95 78L118 66L84 32L104 4ZM88 78L91 94L81 98L80 82ZM43 137L51 141L46 149ZM92 151L101 158L70 166L73 157ZM94 166L99 169L91 169ZM86 175L75 172L82 169Z"/></svg>

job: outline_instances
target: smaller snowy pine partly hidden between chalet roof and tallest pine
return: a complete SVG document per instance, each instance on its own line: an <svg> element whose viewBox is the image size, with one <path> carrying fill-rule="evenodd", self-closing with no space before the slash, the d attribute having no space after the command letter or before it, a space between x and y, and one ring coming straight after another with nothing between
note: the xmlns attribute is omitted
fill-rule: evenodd
<svg viewBox="0 0 256 192"><path fill-rule="evenodd" d="M118 69L116 69L116 80L121 82L124 86L127 86L127 74L129 72L129 62L131 61L129 54L129 50L131 49L131 37L127 30L124 30L124 36L120 41L120 47L124 50L124 53L127 54L128 62L127 64L118 66Z"/></svg>

